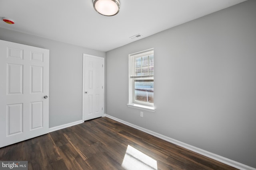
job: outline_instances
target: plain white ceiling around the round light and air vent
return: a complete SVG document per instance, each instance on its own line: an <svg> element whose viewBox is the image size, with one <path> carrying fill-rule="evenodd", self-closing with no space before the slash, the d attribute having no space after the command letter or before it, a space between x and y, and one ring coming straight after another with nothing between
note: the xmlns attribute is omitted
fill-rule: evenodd
<svg viewBox="0 0 256 170"><path fill-rule="evenodd" d="M120 0L107 17L92 0L0 0L0 27L100 51L110 51L245 0ZM130 39L140 33L142 37Z"/></svg>

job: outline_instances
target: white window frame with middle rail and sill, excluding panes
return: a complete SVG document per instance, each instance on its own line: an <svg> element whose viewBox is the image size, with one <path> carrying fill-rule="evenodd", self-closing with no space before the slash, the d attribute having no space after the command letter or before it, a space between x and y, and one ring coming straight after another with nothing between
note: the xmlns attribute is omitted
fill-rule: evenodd
<svg viewBox="0 0 256 170"><path fill-rule="evenodd" d="M132 53L128 55L129 57L129 102L127 104L128 107L134 107L138 109L143 109L147 111L155 111L154 109L154 103L149 103L149 102L142 102L142 101L135 101L135 80L153 80L154 81L154 75L151 76L132 76L131 70L132 70L132 62L133 62L133 57L136 55L142 55L147 54L147 53L153 53L154 54L154 48L152 49L147 49L144 51L140 51L137 53ZM154 92L153 92L154 93Z"/></svg>

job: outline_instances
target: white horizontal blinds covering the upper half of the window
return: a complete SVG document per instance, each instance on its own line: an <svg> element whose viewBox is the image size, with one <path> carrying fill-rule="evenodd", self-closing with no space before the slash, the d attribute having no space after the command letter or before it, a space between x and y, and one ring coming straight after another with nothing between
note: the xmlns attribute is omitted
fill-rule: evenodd
<svg viewBox="0 0 256 170"><path fill-rule="evenodd" d="M131 56L131 78L154 77L154 50L135 53Z"/></svg>

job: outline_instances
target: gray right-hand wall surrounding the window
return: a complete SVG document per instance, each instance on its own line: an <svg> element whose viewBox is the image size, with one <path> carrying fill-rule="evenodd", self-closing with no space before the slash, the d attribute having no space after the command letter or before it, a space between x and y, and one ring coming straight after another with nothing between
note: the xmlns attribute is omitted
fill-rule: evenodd
<svg viewBox="0 0 256 170"><path fill-rule="evenodd" d="M256 1L106 53L106 114L256 168ZM154 23L152 23L154 24ZM154 48L155 112L127 107L128 55Z"/></svg>

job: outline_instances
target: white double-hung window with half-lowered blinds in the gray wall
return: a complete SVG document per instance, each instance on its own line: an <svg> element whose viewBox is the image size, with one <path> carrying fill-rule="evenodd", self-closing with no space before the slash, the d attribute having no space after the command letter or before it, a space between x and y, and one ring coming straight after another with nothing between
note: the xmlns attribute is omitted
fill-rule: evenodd
<svg viewBox="0 0 256 170"><path fill-rule="evenodd" d="M129 105L154 106L154 49L129 55Z"/></svg>

